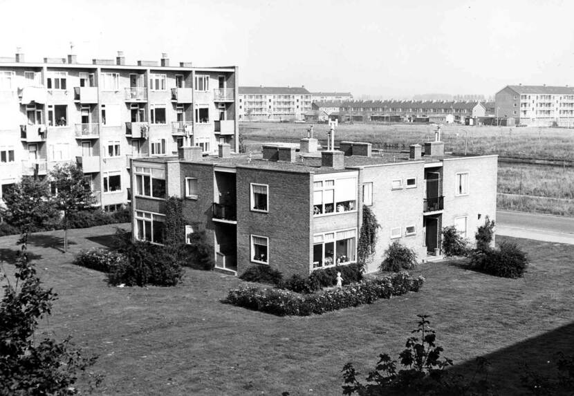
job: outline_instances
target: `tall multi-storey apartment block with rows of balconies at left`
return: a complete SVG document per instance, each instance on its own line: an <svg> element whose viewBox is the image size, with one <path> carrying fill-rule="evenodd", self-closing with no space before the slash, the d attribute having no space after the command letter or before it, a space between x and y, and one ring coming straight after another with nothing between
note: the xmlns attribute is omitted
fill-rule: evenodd
<svg viewBox="0 0 574 396"><path fill-rule="evenodd" d="M166 54L133 65L122 52L91 64L75 55L0 58L2 190L77 162L94 205L116 209L131 199L132 158L173 155L184 144L205 155L219 143L237 150L237 95L237 67L170 66Z"/></svg>

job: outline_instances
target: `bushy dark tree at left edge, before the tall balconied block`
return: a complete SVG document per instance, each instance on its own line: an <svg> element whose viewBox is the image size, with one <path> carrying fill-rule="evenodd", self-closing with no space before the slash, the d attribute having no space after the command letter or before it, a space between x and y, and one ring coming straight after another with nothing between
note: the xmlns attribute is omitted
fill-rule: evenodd
<svg viewBox="0 0 574 396"><path fill-rule="evenodd" d="M23 176L3 195L3 200L6 203L6 209L1 209L3 218L8 224L18 227L25 238L54 215L48 182L36 177ZM22 241L24 245L26 242Z"/></svg>

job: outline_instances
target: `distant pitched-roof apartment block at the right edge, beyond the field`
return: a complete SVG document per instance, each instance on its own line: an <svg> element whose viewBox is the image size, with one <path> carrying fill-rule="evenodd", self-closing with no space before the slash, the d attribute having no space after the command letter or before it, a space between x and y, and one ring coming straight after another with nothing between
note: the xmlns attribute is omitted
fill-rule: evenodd
<svg viewBox="0 0 574 396"><path fill-rule="evenodd" d="M494 99L495 117L506 124L574 126L574 87L508 85Z"/></svg>

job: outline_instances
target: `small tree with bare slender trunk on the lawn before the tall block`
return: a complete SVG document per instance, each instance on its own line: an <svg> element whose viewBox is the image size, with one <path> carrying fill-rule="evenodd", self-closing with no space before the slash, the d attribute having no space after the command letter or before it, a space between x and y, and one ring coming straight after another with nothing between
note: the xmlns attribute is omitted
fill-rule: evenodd
<svg viewBox="0 0 574 396"><path fill-rule="evenodd" d="M68 251L68 218L71 214L89 207L91 189L84 172L76 164L56 167L50 176L56 186L53 202L56 209L64 213L64 252Z"/></svg>

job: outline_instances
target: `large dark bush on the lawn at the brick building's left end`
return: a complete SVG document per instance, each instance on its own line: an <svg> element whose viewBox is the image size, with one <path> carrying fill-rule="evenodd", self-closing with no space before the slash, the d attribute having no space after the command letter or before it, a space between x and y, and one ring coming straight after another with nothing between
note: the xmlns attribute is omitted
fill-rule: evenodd
<svg viewBox="0 0 574 396"><path fill-rule="evenodd" d="M124 248L124 255L127 259L108 274L111 285L174 286L183 276L180 263L163 246L134 242Z"/></svg>

